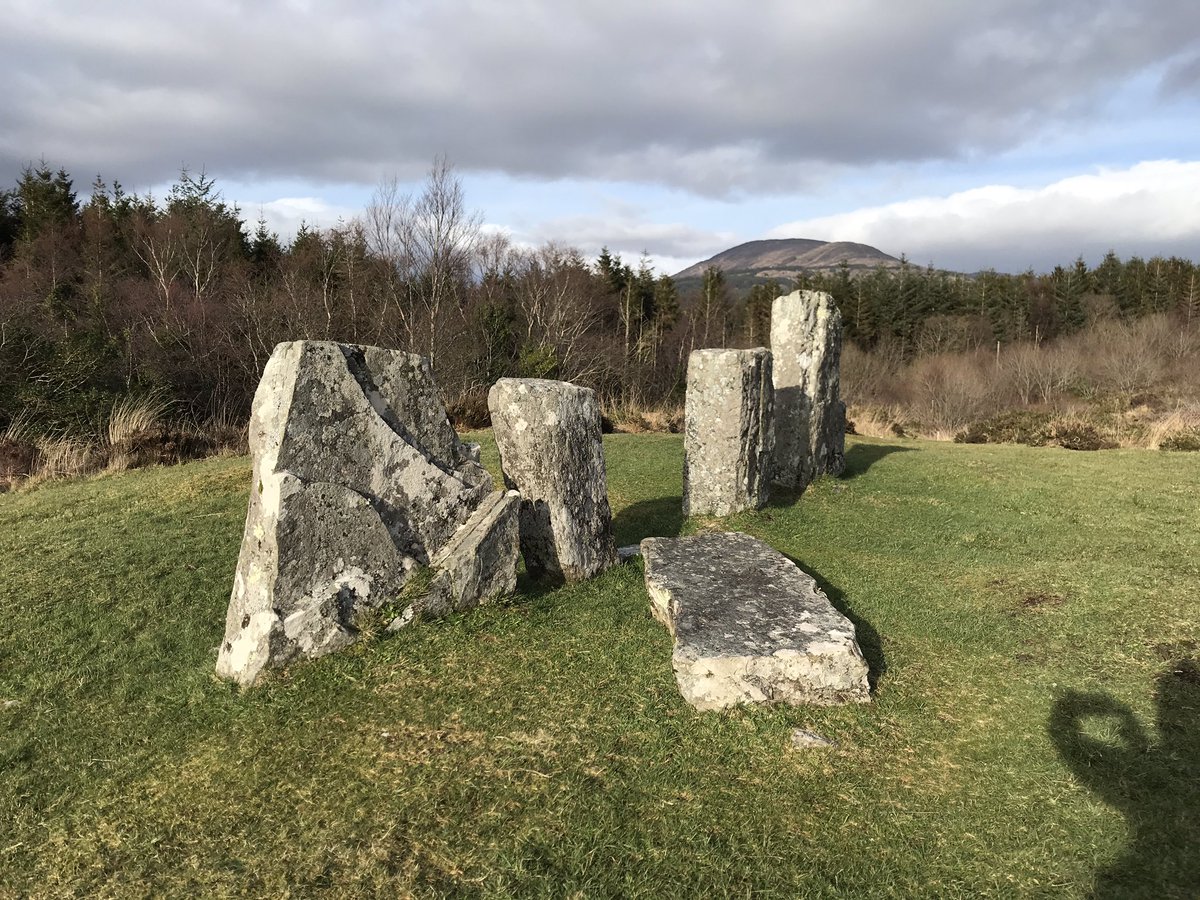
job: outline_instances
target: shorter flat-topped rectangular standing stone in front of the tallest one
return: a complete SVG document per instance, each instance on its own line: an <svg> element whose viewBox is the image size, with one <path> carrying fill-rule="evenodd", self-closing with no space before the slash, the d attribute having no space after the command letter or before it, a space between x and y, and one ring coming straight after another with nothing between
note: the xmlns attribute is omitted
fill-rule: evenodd
<svg viewBox="0 0 1200 900"><path fill-rule="evenodd" d="M772 463L770 350L688 358L683 514L728 516L767 503Z"/></svg>

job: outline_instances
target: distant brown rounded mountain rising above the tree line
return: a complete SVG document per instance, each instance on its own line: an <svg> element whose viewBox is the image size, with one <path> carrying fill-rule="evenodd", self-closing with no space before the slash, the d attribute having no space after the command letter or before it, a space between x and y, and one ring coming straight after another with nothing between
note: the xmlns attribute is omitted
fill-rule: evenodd
<svg viewBox="0 0 1200 900"><path fill-rule="evenodd" d="M678 272L676 281L700 278L710 265L721 269L727 281L742 282L764 278L787 278L802 271L833 271L842 260L851 270L869 270L883 266L892 269L900 260L882 250L852 241L817 241L806 238L748 241L721 251L702 263L696 263Z"/></svg>

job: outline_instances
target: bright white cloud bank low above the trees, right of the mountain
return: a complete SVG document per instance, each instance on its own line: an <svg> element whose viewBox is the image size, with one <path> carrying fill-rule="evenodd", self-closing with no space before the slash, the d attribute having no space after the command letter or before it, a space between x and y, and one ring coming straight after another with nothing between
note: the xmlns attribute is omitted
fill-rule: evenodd
<svg viewBox="0 0 1200 900"><path fill-rule="evenodd" d="M1046 270L1106 250L1200 257L1200 162L1100 168L1034 188L989 185L788 222L770 238L870 244L917 264Z"/></svg>

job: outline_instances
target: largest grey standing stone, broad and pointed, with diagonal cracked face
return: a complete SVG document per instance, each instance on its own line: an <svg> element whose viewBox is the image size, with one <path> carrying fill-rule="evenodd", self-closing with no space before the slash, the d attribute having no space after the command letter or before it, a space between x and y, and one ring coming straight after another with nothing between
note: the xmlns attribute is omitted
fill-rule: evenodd
<svg viewBox="0 0 1200 900"><path fill-rule="evenodd" d="M217 673L356 638L492 491L460 445L428 362L318 341L275 348L250 422L253 480Z"/></svg>

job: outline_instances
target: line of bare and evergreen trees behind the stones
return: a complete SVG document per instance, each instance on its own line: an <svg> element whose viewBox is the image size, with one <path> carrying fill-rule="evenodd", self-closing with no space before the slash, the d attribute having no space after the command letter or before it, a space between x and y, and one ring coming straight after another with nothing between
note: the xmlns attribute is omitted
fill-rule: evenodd
<svg viewBox="0 0 1200 900"><path fill-rule="evenodd" d="M1099 319L1200 322L1189 260L1154 257L1049 274L847 266L736 295L718 269L680 293L643 254L514 245L482 228L438 160L424 186L382 184L364 214L281 241L215 181L184 170L167 196L29 166L0 191L0 428L102 427L130 395L203 422L244 421L280 341L336 340L428 356L451 415L482 424L505 376L595 388L608 406L676 404L690 350L767 343L772 300L828 290L864 350L922 355L1049 342Z"/></svg>

